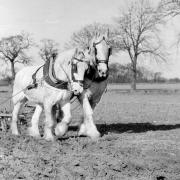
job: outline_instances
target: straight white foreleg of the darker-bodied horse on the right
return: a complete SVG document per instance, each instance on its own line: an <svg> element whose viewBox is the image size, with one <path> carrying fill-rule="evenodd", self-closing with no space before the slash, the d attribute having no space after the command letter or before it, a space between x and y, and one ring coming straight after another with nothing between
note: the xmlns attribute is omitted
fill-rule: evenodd
<svg viewBox="0 0 180 180"><path fill-rule="evenodd" d="M98 132L96 125L94 124L93 121L93 109L86 95L83 96L82 100L80 99L80 102L83 107L84 121L80 125L80 130L78 135L87 135L91 139L95 140L100 136L100 133Z"/></svg>

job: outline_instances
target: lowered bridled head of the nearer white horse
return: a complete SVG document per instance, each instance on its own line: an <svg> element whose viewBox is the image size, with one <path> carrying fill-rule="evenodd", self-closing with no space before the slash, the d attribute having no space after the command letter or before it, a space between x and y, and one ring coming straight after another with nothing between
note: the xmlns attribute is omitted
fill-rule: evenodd
<svg viewBox="0 0 180 180"><path fill-rule="evenodd" d="M74 95L78 95L83 91L84 74L89 67L89 60L85 56L85 52L76 49L71 60L71 87Z"/></svg>

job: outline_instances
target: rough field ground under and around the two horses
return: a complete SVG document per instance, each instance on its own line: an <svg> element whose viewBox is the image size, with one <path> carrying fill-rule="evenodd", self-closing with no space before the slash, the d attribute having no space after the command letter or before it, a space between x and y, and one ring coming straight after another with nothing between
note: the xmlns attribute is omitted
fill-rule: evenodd
<svg viewBox="0 0 180 180"><path fill-rule="evenodd" d="M180 93L104 94L94 119L99 141L77 137L80 107L55 142L0 132L0 180L180 180ZM27 120L29 123L29 121Z"/></svg>

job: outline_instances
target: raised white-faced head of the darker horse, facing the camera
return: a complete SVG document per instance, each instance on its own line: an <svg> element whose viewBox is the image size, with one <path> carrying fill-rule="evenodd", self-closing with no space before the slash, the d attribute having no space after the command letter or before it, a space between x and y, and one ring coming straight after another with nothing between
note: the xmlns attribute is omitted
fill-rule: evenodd
<svg viewBox="0 0 180 180"><path fill-rule="evenodd" d="M98 76L100 78L105 78L108 76L108 62L111 55L111 47L107 42L108 36L109 32L107 32L105 35L96 33L95 37L91 41L90 46L91 54L94 56L94 65L97 68Z"/></svg>

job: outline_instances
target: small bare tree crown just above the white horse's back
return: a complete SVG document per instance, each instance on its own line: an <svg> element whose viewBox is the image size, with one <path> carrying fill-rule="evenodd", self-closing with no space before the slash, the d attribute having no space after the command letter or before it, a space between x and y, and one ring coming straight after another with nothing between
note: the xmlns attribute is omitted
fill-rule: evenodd
<svg viewBox="0 0 180 180"><path fill-rule="evenodd" d="M44 61L56 58L58 55L58 43L52 39L41 40L39 55Z"/></svg>

